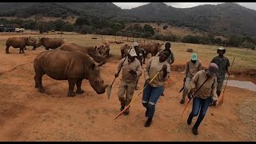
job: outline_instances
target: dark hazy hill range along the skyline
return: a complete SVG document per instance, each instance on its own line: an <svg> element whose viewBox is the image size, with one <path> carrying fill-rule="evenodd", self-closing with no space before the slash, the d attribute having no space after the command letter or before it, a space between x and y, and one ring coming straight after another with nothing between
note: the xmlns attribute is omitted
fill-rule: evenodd
<svg viewBox="0 0 256 144"><path fill-rule="evenodd" d="M256 11L235 3L174 8L152 2L122 10L111 2L1 2L0 17L30 18L42 14L55 18L122 19L126 22L168 22L213 35L256 35Z"/></svg>

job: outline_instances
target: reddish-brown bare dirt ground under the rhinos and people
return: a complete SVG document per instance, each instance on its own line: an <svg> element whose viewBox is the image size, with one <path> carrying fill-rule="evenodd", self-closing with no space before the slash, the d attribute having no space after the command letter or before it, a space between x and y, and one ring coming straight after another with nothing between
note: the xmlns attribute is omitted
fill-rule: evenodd
<svg viewBox="0 0 256 144"><path fill-rule="evenodd" d="M138 96L130 114L121 115L118 102L119 78L114 82L110 100L106 93L98 95L87 80L82 82L84 94L66 97L68 83L44 75L44 94L34 88L33 61L43 48L18 54L10 48L0 50L0 141L256 141L256 93L227 86L224 104L209 107L198 128L198 135L186 124L191 103L182 114L183 74L171 72L173 84L157 103L152 125L145 128L142 95ZM108 84L114 79L118 59L110 58L101 74ZM143 66L144 67L144 66ZM144 78L138 83L142 90Z"/></svg>

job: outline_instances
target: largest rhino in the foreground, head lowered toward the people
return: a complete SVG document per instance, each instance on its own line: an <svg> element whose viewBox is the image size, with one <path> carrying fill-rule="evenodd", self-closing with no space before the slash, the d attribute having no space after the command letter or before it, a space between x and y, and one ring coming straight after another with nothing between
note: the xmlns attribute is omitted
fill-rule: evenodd
<svg viewBox="0 0 256 144"><path fill-rule="evenodd" d="M104 62L97 63L94 59L81 51L50 50L42 51L34 58L34 82L35 88L40 93L45 90L42 87L42 76L47 74L55 80L67 80L69 82L68 97L74 97L74 86L77 86L76 93L82 94L82 80L88 79L90 86L97 94L104 94L107 85L102 80L99 66Z"/></svg>

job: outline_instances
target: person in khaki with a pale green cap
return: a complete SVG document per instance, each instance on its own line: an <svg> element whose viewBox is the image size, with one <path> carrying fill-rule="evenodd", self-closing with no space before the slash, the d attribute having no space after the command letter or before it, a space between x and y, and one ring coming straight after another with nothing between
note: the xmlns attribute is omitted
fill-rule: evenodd
<svg viewBox="0 0 256 144"><path fill-rule="evenodd" d="M194 77L194 74L197 74L198 71L202 70L202 62L198 59L198 55L193 53L192 58L186 62L186 70L185 70L185 78L183 82L185 82L183 95L181 104L185 102L186 94L190 89L191 79Z"/></svg>

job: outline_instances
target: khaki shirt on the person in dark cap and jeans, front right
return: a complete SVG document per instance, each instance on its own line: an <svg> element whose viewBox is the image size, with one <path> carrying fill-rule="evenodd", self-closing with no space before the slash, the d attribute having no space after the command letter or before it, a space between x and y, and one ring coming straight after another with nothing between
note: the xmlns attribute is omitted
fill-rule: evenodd
<svg viewBox="0 0 256 144"><path fill-rule="evenodd" d="M202 83L206 81L206 71L200 70L197 74L194 75L194 77L191 80L190 83L190 90L193 88L198 88L202 86ZM195 94L198 98L210 98L212 97L214 101L218 100L218 95L216 94L217 91L217 78L209 78L206 83L201 87L201 89Z"/></svg>

